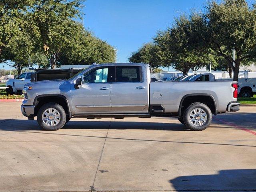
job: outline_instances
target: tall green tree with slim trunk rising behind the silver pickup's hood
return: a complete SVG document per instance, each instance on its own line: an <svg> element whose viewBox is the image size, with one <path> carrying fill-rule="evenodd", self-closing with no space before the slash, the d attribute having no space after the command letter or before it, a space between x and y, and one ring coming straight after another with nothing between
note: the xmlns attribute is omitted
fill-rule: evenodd
<svg viewBox="0 0 256 192"><path fill-rule="evenodd" d="M38 0L28 13L39 32L35 37L37 48L44 51L52 69L76 43L82 26L73 19L80 17L79 6L80 0Z"/></svg>

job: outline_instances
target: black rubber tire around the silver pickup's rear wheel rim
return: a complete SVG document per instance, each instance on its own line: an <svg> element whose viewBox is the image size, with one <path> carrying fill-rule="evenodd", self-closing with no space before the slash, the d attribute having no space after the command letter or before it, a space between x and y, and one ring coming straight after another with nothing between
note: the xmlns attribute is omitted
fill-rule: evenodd
<svg viewBox="0 0 256 192"><path fill-rule="evenodd" d="M196 120L194 118L195 119L194 122L193 121L190 122L190 113L193 112L193 110L196 110L197 108L204 110L204 112L206 113L206 116L204 116L204 117L206 117L205 122L202 122L202 117L200 117L199 113L195 114L195 116L197 116L196 118L200 118L200 119ZM198 111L196 110L196 112L198 112ZM190 104L190 106L186 107L186 109L184 110L183 121L184 121L184 124L186 125L186 127L189 128L190 130L202 131L202 130L205 130L206 128L208 128L208 126L210 126L210 124L212 122L212 112L206 104L199 103L199 102L192 103L192 104ZM201 126L198 125L200 123L199 121L201 123L203 123Z"/></svg>

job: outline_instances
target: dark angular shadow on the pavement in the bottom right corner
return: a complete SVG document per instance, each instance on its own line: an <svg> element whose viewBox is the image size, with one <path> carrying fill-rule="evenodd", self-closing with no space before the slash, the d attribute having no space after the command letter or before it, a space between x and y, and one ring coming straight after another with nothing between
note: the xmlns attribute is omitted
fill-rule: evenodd
<svg viewBox="0 0 256 192"><path fill-rule="evenodd" d="M213 175L180 176L169 180L177 191L256 190L256 169L220 170Z"/></svg>

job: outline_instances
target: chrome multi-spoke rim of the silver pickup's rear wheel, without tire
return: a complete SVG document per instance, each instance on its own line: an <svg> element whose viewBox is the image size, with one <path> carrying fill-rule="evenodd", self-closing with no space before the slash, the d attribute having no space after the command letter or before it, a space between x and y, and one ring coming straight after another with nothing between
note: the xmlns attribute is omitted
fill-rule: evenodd
<svg viewBox="0 0 256 192"><path fill-rule="evenodd" d="M195 126L202 126L207 121L207 114L206 112L201 108L195 108L193 109L190 114L190 122Z"/></svg>

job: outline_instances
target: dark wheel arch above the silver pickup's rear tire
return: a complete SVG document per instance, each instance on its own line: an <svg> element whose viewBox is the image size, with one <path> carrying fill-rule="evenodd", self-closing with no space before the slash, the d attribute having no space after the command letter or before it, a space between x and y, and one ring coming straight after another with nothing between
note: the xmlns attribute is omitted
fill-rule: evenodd
<svg viewBox="0 0 256 192"><path fill-rule="evenodd" d="M194 101L190 100L195 97L197 97L196 100L194 100ZM202 98L204 98L204 99L201 102L200 99L202 99ZM208 106L209 101L212 102L213 105ZM216 100L214 99L214 96L212 96L211 94L207 94L207 93L194 93L194 94L187 94L182 97L182 99L180 101L179 111L178 111L179 117L182 116L182 108L184 108L194 102L204 103L211 109L211 111L214 115L218 114L217 103L216 103ZM185 105L183 105L183 104L185 104Z"/></svg>

